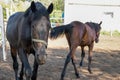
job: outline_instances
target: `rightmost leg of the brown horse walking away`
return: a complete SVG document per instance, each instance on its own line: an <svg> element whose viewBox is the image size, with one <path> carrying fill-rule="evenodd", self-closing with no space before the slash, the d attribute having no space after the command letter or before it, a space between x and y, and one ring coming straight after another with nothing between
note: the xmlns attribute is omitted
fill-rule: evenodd
<svg viewBox="0 0 120 80"><path fill-rule="evenodd" d="M90 74L92 74L91 71L91 61L92 61L92 50L93 50L93 45L94 43L92 43L91 45L89 45L89 52L88 52L88 71Z"/></svg>

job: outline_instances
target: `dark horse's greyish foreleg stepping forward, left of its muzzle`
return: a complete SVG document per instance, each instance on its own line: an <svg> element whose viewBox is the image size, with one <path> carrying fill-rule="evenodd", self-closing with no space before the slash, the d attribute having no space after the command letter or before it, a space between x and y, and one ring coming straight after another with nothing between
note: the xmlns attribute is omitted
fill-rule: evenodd
<svg viewBox="0 0 120 80"><path fill-rule="evenodd" d="M25 68L24 72L25 72L26 80L30 80L30 78L32 76L32 70L31 70L30 64L28 62L27 53L25 53L23 48L19 48L18 53L19 53L20 60Z"/></svg>

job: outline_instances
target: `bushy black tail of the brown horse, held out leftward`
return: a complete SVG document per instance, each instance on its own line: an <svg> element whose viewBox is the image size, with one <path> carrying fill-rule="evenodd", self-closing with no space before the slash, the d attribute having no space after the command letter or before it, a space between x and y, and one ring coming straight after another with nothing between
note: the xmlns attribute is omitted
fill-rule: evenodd
<svg viewBox="0 0 120 80"><path fill-rule="evenodd" d="M72 32L72 25L71 24L57 26L57 27L54 27L51 29L50 38L56 39L56 38L64 35L65 33L70 34L71 32Z"/></svg>

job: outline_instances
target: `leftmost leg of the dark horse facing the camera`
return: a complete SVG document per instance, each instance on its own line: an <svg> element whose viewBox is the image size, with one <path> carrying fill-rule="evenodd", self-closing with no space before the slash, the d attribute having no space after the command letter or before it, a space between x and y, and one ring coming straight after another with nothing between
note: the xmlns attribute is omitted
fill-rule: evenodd
<svg viewBox="0 0 120 80"><path fill-rule="evenodd" d="M17 62L17 50L15 48L13 48L12 46L10 46L11 48L11 56L13 59L13 69L15 71L15 79L18 79L18 62Z"/></svg>

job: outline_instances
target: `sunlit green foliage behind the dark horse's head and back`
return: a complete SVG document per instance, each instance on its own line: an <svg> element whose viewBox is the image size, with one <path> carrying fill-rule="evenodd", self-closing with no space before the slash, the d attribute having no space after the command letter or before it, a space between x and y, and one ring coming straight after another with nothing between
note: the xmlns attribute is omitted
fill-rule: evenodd
<svg viewBox="0 0 120 80"><path fill-rule="evenodd" d="M11 10L13 13L17 11L25 11L30 2L33 0L0 0L0 5L3 7L4 18L6 18L6 9ZM57 18L52 20L52 22L62 22L58 18L62 17L62 13L64 11L64 0L34 0L40 1L46 8L52 2L54 4L54 11L50 15L51 18ZM10 13L11 14L11 13Z"/></svg>

